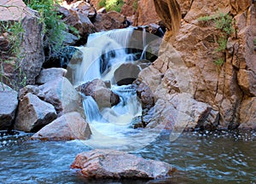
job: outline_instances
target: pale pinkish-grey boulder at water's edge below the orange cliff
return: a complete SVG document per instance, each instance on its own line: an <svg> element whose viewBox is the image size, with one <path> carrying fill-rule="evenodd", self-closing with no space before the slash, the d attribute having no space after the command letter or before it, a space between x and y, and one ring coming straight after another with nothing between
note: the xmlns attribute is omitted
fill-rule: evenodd
<svg viewBox="0 0 256 184"><path fill-rule="evenodd" d="M151 119L148 128L160 126L162 129L179 131L193 129L217 129L219 114L206 103L195 101L189 94L172 95L170 101L156 101L148 114Z"/></svg>

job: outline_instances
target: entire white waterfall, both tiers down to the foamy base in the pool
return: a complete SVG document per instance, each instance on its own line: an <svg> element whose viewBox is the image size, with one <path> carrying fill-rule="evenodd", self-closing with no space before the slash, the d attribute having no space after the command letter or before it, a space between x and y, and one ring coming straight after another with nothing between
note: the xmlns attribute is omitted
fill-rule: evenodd
<svg viewBox="0 0 256 184"><path fill-rule="evenodd" d="M92 131L90 140L84 141L88 146L131 150L129 145L135 143L134 139L141 141L142 137L146 137L145 134L140 135L141 129L132 128L133 118L142 115L136 86L133 84L118 86L113 77L120 65L134 61L135 56L126 52L133 32L131 28L97 32L90 35L85 47L79 48L84 57L76 71L75 85L87 83L96 78L110 81L111 90L120 98L119 104L99 110L92 97L84 96L84 113ZM146 44L144 34L143 32L143 45ZM148 135L150 138L154 137L152 134ZM139 142L137 145L143 147Z"/></svg>

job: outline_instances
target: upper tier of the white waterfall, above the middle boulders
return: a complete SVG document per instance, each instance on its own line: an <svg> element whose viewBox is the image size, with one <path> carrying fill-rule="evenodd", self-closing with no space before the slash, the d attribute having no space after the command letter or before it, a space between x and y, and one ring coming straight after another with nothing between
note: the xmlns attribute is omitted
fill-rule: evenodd
<svg viewBox="0 0 256 184"><path fill-rule="evenodd" d="M132 60L132 56L125 52L132 32L133 29L126 28L90 34L85 47L79 48L84 57L77 68L74 84L79 85L95 78L102 78L102 73L108 68Z"/></svg>

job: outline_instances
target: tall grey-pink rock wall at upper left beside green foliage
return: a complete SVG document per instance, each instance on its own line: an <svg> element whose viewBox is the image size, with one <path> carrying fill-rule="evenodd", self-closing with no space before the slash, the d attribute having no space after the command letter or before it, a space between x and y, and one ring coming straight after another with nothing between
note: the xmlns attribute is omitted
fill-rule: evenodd
<svg viewBox="0 0 256 184"><path fill-rule="evenodd" d="M0 20L21 21L24 30L22 36L20 35L22 57L19 64L23 76L20 78L20 73L15 70L14 65L13 69L9 70L11 73L8 77L18 81L17 85L25 78L26 84L34 84L44 62L43 24L38 21L38 13L28 9L22 0L5 0L1 1L0 5L12 6L8 9L0 7Z"/></svg>

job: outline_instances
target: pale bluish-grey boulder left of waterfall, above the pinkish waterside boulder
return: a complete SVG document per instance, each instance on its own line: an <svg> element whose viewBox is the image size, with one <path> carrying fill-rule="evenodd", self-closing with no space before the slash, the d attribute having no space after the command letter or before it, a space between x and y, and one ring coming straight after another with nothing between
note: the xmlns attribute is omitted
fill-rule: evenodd
<svg viewBox="0 0 256 184"><path fill-rule="evenodd" d="M39 86L39 96L53 106L60 117L67 112L80 111L81 99L79 93L67 78L55 78Z"/></svg>

